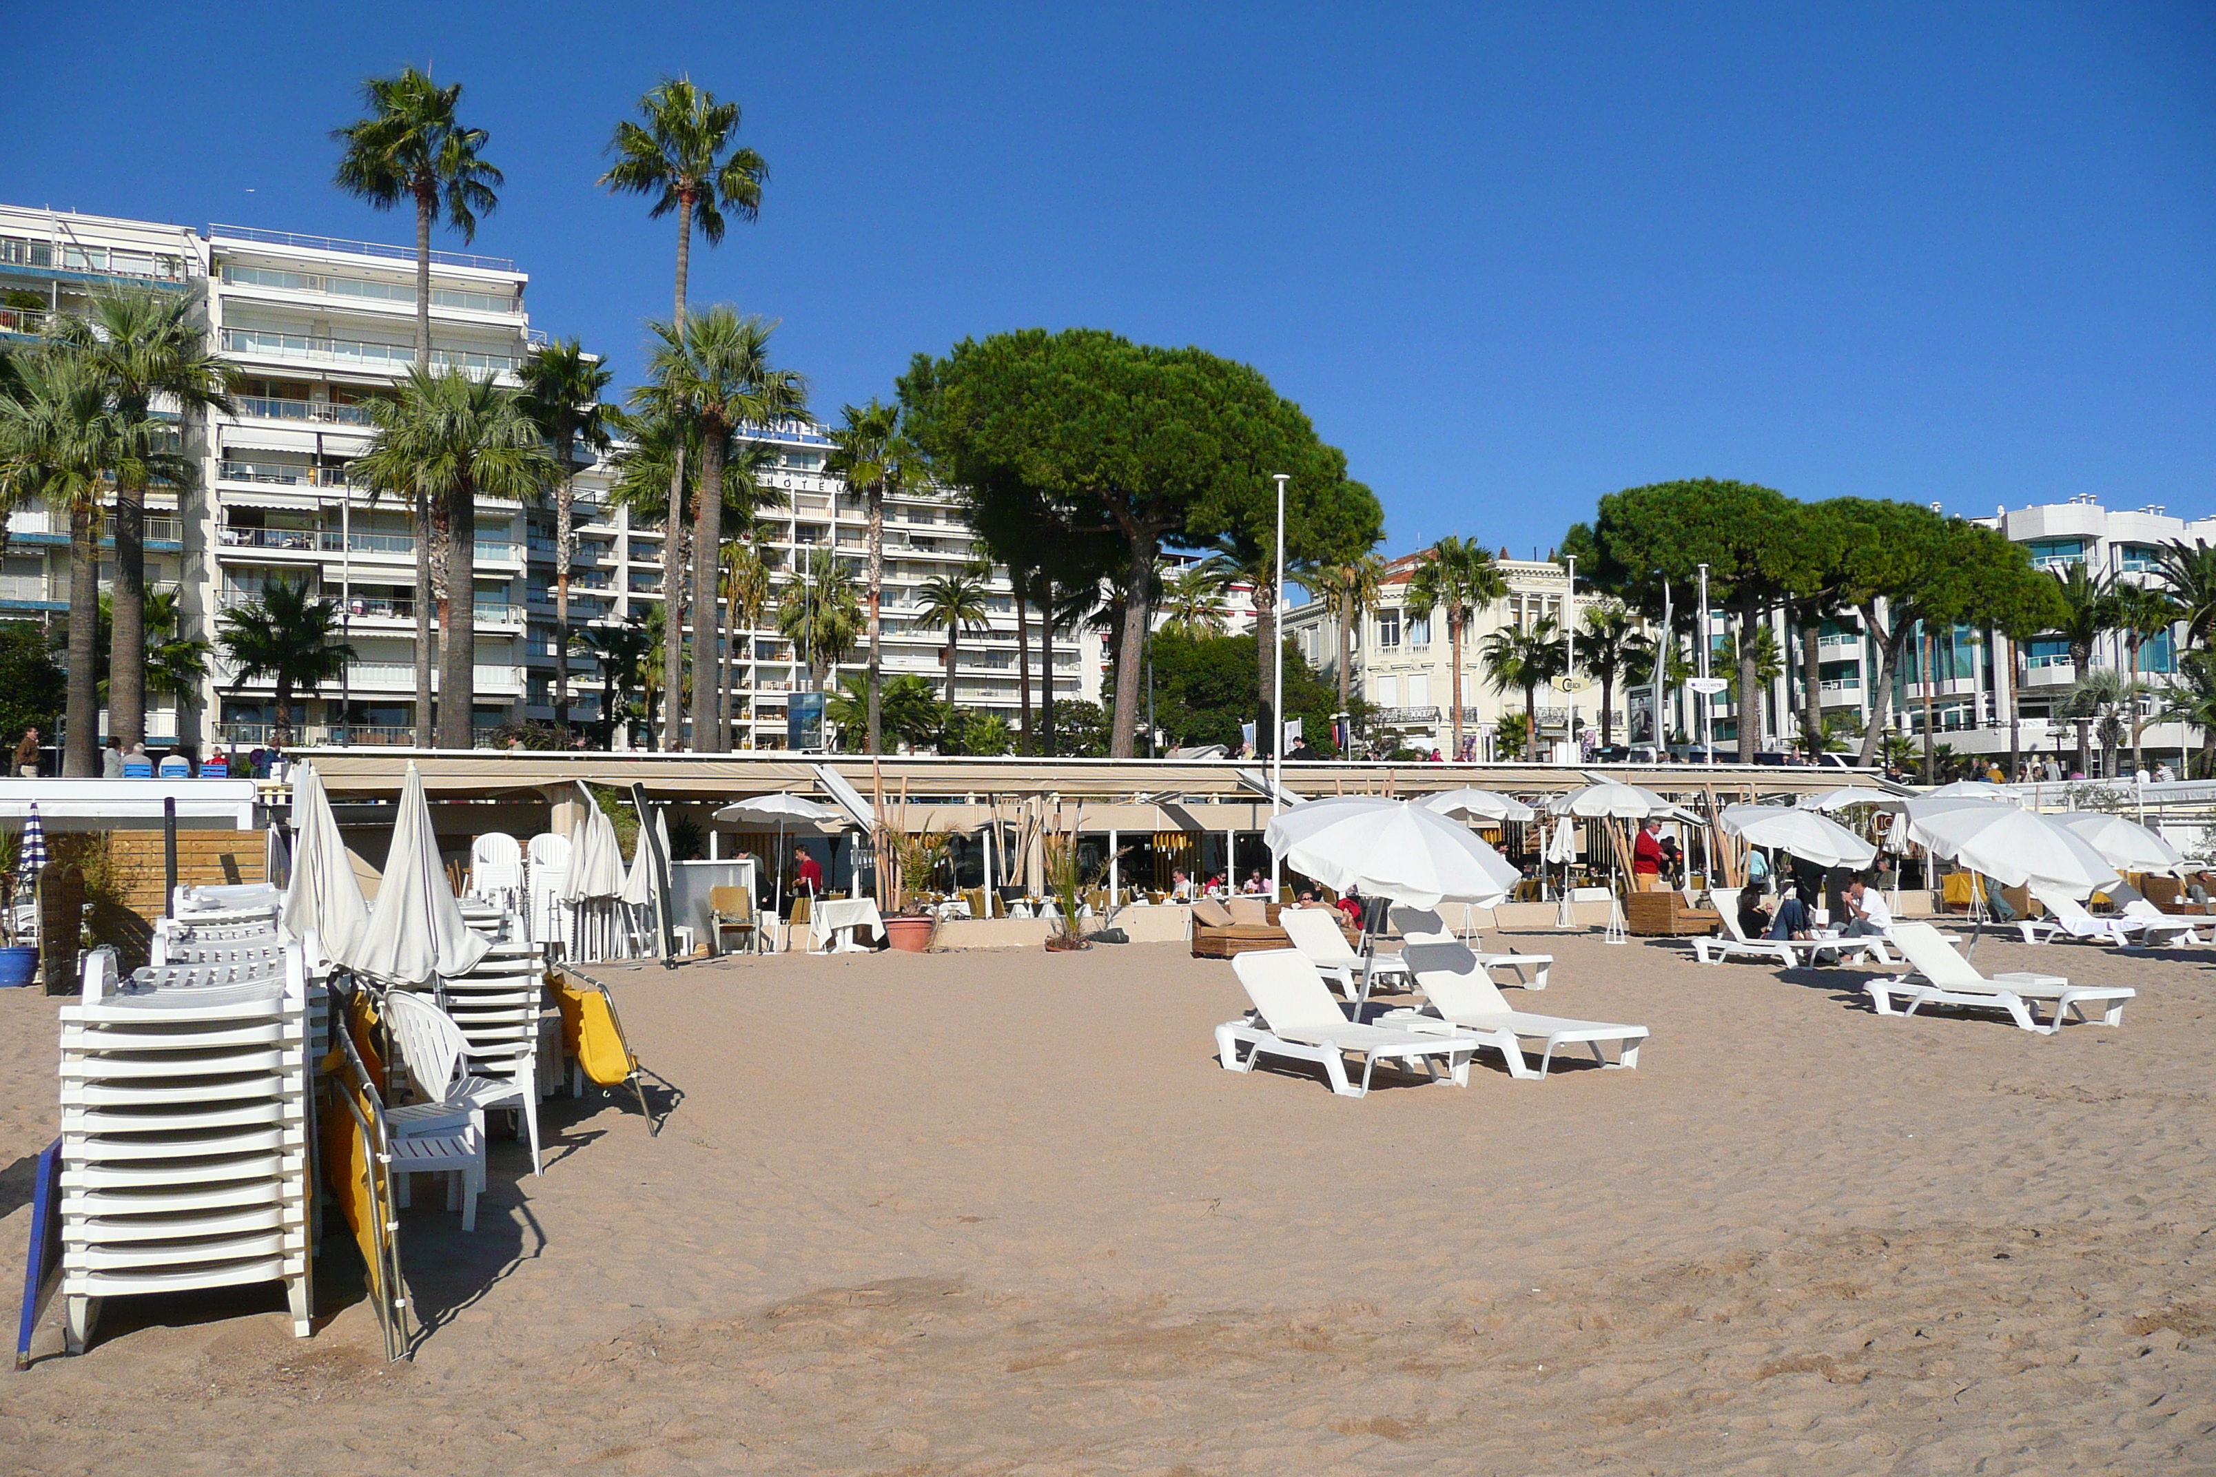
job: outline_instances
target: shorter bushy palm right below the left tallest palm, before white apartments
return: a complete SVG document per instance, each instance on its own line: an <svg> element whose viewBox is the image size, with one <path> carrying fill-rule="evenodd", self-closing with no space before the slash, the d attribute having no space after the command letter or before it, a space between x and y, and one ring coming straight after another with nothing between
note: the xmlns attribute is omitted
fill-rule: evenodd
<svg viewBox="0 0 2216 1477"><path fill-rule="evenodd" d="M476 496L525 500L561 478L538 427L516 396L490 379L461 370L432 372L412 365L394 399L368 401L377 427L370 450L352 463L368 487L414 487L445 525L445 543L459 554L448 562L439 600L439 748L470 748L476 742L470 693L476 689Z"/></svg>

